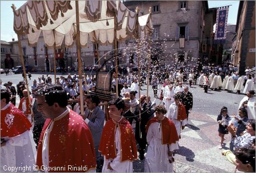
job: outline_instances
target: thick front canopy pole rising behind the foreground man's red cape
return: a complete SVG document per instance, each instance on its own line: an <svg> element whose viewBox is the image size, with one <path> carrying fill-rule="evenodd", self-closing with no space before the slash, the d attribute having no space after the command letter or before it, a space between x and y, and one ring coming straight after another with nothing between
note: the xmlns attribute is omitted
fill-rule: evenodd
<svg viewBox="0 0 256 173"><path fill-rule="evenodd" d="M76 49L77 49L77 60L78 60L78 75L79 75L80 110L81 110L81 114L83 115L83 91L82 91L82 71L81 71L82 62L81 62L78 1L76 1Z"/></svg>

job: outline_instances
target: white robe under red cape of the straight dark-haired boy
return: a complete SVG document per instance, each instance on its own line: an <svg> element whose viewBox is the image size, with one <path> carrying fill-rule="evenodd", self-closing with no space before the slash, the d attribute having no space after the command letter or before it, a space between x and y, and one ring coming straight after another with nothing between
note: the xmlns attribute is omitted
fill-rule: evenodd
<svg viewBox="0 0 256 173"><path fill-rule="evenodd" d="M121 141L120 141L120 129L116 127L116 134L115 134L115 145L116 145L116 157L114 159L107 160L104 156L104 164L102 167L102 172L133 172L133 162L131 161L124 161L121 162ZM114 170L108 169L108 164Z"/></svg>

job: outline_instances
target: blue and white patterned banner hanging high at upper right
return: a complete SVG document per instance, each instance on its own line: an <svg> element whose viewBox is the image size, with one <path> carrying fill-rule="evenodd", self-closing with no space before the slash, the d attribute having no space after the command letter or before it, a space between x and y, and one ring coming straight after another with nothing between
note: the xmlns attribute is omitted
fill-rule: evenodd
<svg viewBox="0 0 256 173"><path fill-rule="evenodd" d="M217 9L215 40L226 39L228 6Z"/></svg>

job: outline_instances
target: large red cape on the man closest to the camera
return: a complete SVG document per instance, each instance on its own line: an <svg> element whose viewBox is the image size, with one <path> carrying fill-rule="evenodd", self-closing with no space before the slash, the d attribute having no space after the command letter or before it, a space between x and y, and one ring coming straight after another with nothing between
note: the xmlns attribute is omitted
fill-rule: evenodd
<svg viewBox="0 0 256 173"><path fill-rule="evenodd" d="M39 168L42 165L42 144L51 123L54 124L48 140L49 167L63 166L65 172L83 171L69 170L68 165L87 166L88 170L95 168L96 156L92 134L82 117L72 110L58 118L46 120L38 143L36 165Z"/></svg>

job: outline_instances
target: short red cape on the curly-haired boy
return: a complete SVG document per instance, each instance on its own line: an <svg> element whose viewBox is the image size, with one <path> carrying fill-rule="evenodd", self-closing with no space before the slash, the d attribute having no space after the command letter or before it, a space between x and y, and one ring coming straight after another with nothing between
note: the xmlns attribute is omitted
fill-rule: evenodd
<svg viewBox="0 0 256 173"><path fill-rule="evenodd" d="M152 123L158 122L158 121L159 120L156 117L150 119L146 124L146 133L147 133L148 127ZM172 143L176 143L176 141L179 141L177 130L172 120L170 120L167 117L164 117L164 119L161 120L161 126L162 126L162 144L172 144Z"/></svg>

